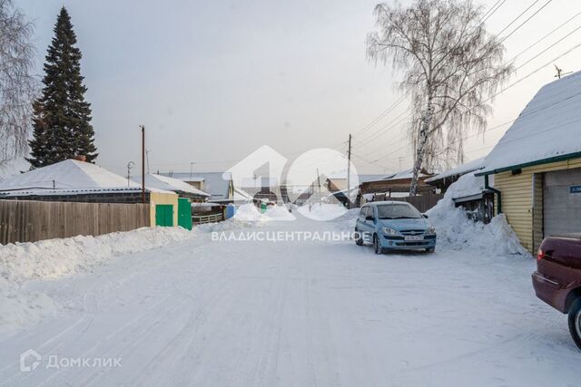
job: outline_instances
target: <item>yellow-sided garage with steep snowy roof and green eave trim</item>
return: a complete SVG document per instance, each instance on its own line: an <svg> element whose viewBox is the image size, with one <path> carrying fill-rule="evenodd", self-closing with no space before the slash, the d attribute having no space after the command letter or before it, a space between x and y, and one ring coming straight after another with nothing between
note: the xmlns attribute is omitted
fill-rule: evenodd
<svg viewBox="0 0 581 387"><path fill-rule="evenodd" d="M540 89L476 172L521 244L581 231L581 73Z"/></svg>

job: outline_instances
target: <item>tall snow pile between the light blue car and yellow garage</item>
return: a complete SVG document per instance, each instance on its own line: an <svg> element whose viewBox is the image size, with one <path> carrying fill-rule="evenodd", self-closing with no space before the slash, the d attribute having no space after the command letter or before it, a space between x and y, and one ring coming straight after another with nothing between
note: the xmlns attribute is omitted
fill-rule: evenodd
<svg viewBox="0 0 581 387"><path fill-rule="evenodd" d="M468 219L462 208L456 208L452 198L480 192L481 178L474 174L462 176L452 184L436 207L427 211L438 233L438 248L461 250L469 248L475 255L529 256L520 245L504 214L492 218L487 225Z"/></svg>

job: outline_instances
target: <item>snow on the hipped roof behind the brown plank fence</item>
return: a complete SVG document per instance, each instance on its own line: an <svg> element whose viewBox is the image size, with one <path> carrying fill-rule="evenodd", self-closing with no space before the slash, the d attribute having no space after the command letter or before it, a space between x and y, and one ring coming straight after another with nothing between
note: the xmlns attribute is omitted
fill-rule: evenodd
<svg viewBox="0 0 581 387"><path fill-rule="evenodd" d="M8 189L109 189L140 187L133 181L94 164L64 160L0 181L0 191Z"/></svg>

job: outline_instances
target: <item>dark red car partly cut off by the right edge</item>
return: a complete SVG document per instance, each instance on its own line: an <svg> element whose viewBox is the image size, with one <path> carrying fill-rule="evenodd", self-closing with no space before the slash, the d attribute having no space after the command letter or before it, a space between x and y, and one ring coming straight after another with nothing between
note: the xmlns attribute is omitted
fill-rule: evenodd
<svg viewBox="0 0 581 387"><path fill-rule="evenodd" d="M569 332L581 349L581 234L547 237L533 273L537 297L569 314Z"/></svg>

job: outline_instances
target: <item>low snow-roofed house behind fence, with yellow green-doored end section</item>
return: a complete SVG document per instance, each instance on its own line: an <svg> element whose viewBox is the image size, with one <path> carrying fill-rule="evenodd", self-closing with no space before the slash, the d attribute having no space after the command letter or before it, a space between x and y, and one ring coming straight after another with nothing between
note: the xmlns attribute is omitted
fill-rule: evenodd
<svg viewBox="0 0 581 387"><path fill-rule="evenodd" d="M142 186L82 160L63 160L0 181L0 198L84 203L142 203ZM145 187L151 226L178 225L178 195Z"/></svg>

